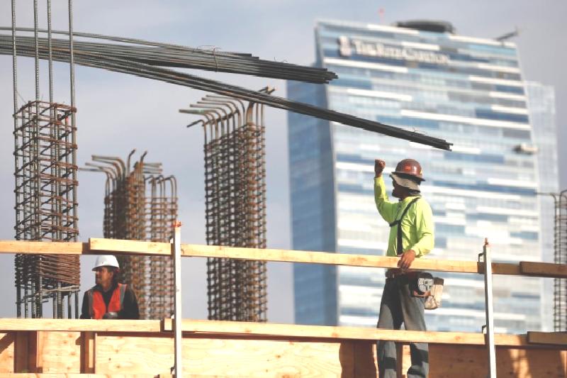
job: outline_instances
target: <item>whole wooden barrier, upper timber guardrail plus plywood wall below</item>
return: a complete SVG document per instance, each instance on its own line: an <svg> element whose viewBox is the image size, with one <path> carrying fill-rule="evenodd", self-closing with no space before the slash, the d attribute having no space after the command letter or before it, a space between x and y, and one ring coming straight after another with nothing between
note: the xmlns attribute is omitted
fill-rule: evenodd
<svg viewBox="0 0 567 378"><path fill-rule="evenodd" d="M171 255L169 243L91 239L89 243L1 241L0 253ZM395 267L395 257L181 245L186 257ZM482 273L483 263L416 260L415 268ZM414 266L412 265L412 267ZM493 263L494 274L567 277L566 265ZM376 340L398 342L399 376L410 342L430 343L430 377L485 377L482 333L298 326L230 321L182 322L187 377L376 377ZM503 377L567 377L567 335L496 335ZM174 365L172 321L0 319L0 376L157 377Z"/></svg>

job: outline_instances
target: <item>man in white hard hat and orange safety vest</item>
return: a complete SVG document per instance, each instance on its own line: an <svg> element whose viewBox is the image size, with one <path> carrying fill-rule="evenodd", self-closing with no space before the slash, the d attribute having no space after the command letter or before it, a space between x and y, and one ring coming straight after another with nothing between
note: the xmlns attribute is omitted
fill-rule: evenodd
<svg viewBox="0 0 567 378"><path fill-rule="evenodd" d="M96 285L83 296L82 319L139 319L140 311L134 291L118 282L120 266L112 255L96 258Z"/></svg>

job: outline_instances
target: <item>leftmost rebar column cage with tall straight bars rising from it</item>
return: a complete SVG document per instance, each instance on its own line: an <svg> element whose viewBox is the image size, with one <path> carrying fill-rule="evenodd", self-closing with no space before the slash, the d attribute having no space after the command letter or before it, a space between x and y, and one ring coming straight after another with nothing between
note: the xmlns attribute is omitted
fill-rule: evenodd
<svg viewBox="0 0 567 378"><path fill-rule="evenodd" d="M77 145L72 106L29 101L13 116L16 160L16 240L77 241ZM43 317L52 299L53 317L79 317L80 262L72 255L15 258L18 318Z"/></svg>

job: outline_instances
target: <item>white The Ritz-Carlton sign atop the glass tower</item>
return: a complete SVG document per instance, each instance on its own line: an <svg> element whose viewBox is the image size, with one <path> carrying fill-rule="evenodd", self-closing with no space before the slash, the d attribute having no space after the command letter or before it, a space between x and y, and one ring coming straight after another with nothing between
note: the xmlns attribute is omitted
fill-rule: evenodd
<svg viewBox="0 0 567 378"><path fill-rule="evenodd" d="M432 51L415 50L412 48L395 48L382 43L364 42L349 37L339 37L339 53L349 57L354 53L366 57L386 57L399 60L413 60L415 62L432 63L434 65L448 65L449 56Z"/></svg>

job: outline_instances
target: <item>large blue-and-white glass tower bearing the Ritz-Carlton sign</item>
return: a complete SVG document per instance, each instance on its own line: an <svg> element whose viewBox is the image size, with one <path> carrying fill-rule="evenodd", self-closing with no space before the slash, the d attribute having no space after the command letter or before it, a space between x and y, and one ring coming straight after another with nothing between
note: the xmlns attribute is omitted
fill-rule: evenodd
<svg viewBox="0 0 567 378"><path fill-rule="evenodd" d="M410 157L422 164L434 213L426 258L476 260L488 238L495 261L541 260L537 159L513 43L457 35L449 23L320 21L315 44L315 65L339 78L325 87L289 82L291 99L454 146L437 150L289 113L294 249L384 255L389 228L374 205L374 159L386 161L388 178ZM439 276L444 302L426 311L428 328L481 330L483 277ZM296 265L296 323L376 326L384 281L383 269ZM540 279L498 275L494 285L496 332L540 328Z"/></svg>

